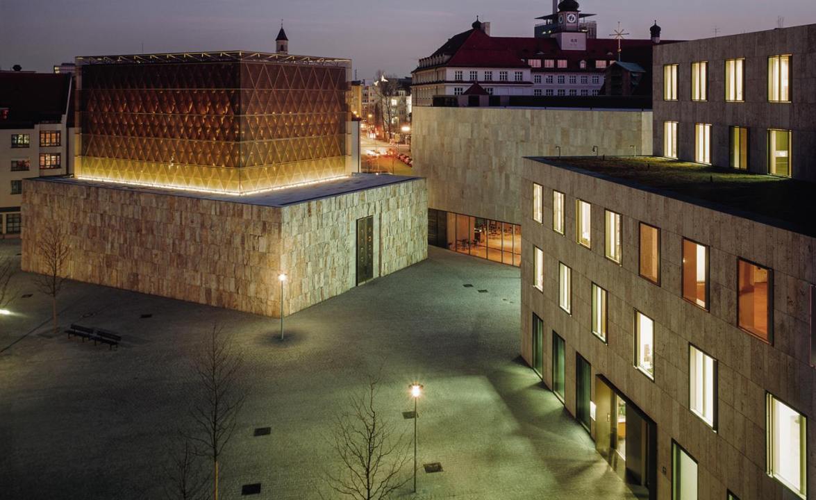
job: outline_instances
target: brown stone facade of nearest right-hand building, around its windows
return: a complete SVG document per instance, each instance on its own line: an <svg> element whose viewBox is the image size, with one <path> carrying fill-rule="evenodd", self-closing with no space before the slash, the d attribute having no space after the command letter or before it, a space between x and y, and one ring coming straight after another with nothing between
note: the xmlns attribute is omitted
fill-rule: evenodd
<svg viewBox="0 0 816 500"><path fill-rule="evenodd" d="M543 185L543 223L532 219L532 183ZM552 230L552 189L565 192L565 235ZM575 241L575 200L592 204L592 250ZM816 240L655 192L526 160L521 188L521 353L532 361L532 314L542 318L543 381L552 387L552 332L565 339L565 406L576 411L576 353L657 424L658 498L671 498L672 439L698 461L698 498L798 498L766 473L765 395L808 418L809 489L816 484L816 369L810 365L809 290ZM623 263L605 258L604 210L622 216ZM661 284L639 276L638 223L660 228ZM682 298L681 244L708 245L709 310ZM533 287L533 246L544 253L543 291ZM737 323L737 258L773 269L773 343ZM572 312L558 306L558 263L572 268ZM608 292L608 344L592 334L592 282ZM634 310L654 320L654 381L634 367ZM689 409L689 344L718 363L718 427ZM594 396L593 396L594 397ZM603 418L598 416L599 422ZM593 436L595 423L592 425ZM663 470L665 469L665 473ZM811 493L812 494L812 493Z"/></svg>

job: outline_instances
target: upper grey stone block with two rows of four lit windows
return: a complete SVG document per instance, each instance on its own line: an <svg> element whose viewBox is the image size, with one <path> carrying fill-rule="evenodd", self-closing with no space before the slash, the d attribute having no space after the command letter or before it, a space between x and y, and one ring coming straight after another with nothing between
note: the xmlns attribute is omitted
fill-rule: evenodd
<svg viewBox="0 0 816 500"><path fill-rule="evenodd" d="M654 154L816 181L816 24L654 47Z"/></svg>

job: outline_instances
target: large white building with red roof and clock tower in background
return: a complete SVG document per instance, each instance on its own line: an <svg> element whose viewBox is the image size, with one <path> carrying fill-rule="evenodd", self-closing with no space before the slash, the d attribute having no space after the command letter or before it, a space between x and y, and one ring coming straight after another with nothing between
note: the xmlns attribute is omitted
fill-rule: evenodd
<svg viewBox="0 0 816 500"><path fill-rule="evenodd" d="M490 95L592 96L601 93L605 69L616 60L651 69L652 46L661 43L659 26L648 39L595 38L578 2L564 0L535 37L493 37L485 23L456 34L413 72L414 105L430 106L434 96L462 95L478 83ZM620 52L619 52L620 48Z"/></svg>

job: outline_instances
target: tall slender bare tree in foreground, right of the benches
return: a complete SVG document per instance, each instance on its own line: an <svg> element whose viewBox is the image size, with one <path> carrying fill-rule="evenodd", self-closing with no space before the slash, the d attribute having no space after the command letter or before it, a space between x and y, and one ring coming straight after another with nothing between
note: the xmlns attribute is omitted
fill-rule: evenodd
<svg viewBox="0 0 816 500"><path fill-rule="evenodd" d="M190 439L202 446L200 454L212 460L212 498L218 500L219 458L233 436L246 391L240 380L243 356L218 326L195 356L193 368L201 390L190 414L198 432Z"/></svg>

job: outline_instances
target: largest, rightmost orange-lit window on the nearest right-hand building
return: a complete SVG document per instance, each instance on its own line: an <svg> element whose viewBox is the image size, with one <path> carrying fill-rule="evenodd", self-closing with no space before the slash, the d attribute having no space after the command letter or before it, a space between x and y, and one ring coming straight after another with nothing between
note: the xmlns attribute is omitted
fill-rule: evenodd
<svg viewBox="0 0 816 500"><path fill-rule="evenodd" d="M737 325L771 343L773 272L747 260L737 264Z"/></svg>

